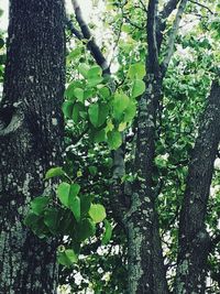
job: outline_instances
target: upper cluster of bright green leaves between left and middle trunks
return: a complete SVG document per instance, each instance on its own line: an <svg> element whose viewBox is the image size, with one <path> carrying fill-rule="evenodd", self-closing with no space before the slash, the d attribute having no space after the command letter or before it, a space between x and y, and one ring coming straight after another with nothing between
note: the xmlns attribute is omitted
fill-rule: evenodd
<svg viewBox="0 0 220 294"><path fill-rule="evenodd" d="M72 81L66 89L63 112L74 124L81 123L94 143L106 142L110 150L122 144L121 132L136 115L136 98L145 90L143 66L130 67L128 78L131 90L111 90L111 79L103 77L99 66L80 64L80 79ZM109 80L110 79L110 80Z"/></svg>

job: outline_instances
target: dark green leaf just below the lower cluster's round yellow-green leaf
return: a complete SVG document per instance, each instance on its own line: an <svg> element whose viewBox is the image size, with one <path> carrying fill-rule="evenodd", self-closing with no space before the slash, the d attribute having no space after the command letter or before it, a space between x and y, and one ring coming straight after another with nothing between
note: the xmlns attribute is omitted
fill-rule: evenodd
<svg viewBox="0 0 220 294"><path fill-rule="evenodd" d="M79 222L77 227L77 236L80 241L84 241L87 238L95 236L95 233L96 225L91 219L85 218L81 220L81 222Z"/></svg>

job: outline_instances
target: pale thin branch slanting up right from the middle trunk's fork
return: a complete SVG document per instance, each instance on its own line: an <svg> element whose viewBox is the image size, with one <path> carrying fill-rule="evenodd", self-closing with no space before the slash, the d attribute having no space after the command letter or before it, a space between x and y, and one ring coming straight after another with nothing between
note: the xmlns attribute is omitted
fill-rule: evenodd
<svg viewBox="0 0 220 294"><path fill-rule="evenodd" d="M177 32L178 32L178 29L179 29L179 23L180 23L182 17L184 14L186 4L187 4L187 0L182 0L180 1L178 10L177 10L177 13L176 13L176 18L175 18L175 21L174 21L174 24L173 24L173 28L172 28L170 33L169 33L168 44L167 44L167 53L166 53L166 56L164 57L164 61L162 63L163 75L165 74L165 72L167 69L168 64L169 64L170 58L172 58L172 55L174 53L174 44L175 44L175 41L176 41Z"/></svg>

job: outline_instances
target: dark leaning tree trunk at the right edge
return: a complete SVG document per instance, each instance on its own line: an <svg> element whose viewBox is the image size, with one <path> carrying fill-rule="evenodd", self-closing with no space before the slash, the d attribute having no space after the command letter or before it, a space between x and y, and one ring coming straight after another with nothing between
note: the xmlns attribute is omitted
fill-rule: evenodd
<svg viewBox="0 0 220 294"><path fill-rule="evenodd" d="M189 165L179 220L176 294L206 292L210 249L206 213L213 162L220 141L220 87L213 83Z"/></svg>

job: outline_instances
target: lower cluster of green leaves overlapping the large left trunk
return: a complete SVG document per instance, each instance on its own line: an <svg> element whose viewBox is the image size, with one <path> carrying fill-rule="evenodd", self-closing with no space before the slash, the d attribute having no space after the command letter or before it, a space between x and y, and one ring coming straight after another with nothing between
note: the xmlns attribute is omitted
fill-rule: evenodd
<svg viewBox="0 0 220 294"><path fill-rule="evenodd" d="M92 170L91 173L94 173ZM45 181L56 176L68 181L63 181L57 186L55 197L52 195L35 197L31 202L31 209L24 221L38 238L69 237L70 248L59 246L57 254L61 264L70 266L78 260L80 243L95 236L100 222L103 221L105 228L103 244L109 242L112 228L106 219L105 207L101 204L95 204L91 195L81 194L80 185L72 181L62 167L48 170Z"/></svg>

